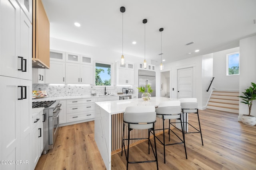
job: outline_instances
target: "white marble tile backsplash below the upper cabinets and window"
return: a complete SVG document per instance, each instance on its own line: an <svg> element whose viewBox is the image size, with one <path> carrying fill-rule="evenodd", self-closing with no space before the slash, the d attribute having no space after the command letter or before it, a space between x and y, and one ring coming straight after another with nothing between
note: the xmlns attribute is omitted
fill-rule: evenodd
<svg viewBox="0 0 256 170"><path fill-rule="evenodd" d="M108 94L117 94L122 92L122 88L136 88L135 86L114 86L107 87ZM87 84L32 84L32 90L46 90L48 97L62 96L89 96L92 90L96 91L97 95L104 95L104 87L94 87Z"/></svg>

